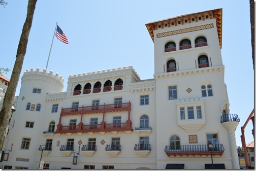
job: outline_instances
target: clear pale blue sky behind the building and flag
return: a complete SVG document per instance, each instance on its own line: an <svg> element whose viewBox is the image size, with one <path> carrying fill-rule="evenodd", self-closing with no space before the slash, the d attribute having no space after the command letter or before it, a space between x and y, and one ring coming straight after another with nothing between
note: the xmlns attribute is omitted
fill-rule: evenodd
<svg viewBox="0 0 256 171"><path fill-rule="evenodd" d="M0 67L13 69L26 17L27 1L9 1L0 7ZM222 60L225 65L230 113L238 114L237 146L241 126L254 108L254 71L251 57L249 0L44 0L38 1L22 72L46 68L56 22L70 45L54 38L48 70L65 79L70 75L133 65L142 80L153 78L153 42L145 24L183 14L222 8ZM5 74L11 78L11 72ZM20 91L20 81L16 90ZM253 141L252 122L245 129Z"/></svg>

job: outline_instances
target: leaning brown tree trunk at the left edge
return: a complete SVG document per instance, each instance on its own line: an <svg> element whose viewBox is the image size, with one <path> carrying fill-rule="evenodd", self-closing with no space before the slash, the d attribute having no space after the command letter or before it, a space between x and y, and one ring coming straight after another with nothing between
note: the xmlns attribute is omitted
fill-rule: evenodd
<svg viewBox="0 0 256 171"><path fill-rule="evenodd" d="M0 111L0 150L3 148L5 136L8 130L8 122L11 117L11 109L18 85L23 60L26 54L28 36L33 21L34 11L36 9L37 0L28 0L27 16L23 25L20 41L17 49L16 60L13 67L12 76L6 90L3 107Z"/></svg>

